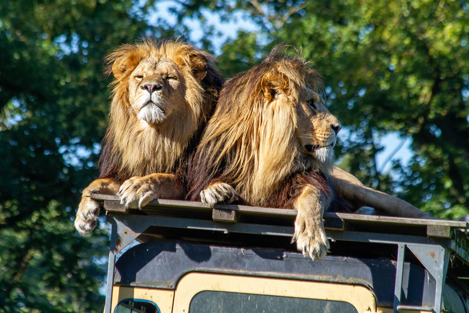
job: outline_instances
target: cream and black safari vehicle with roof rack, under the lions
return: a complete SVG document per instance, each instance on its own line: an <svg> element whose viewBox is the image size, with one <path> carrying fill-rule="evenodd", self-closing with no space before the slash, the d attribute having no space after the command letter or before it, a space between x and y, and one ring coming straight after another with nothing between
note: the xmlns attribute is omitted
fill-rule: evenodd
<svg viewBox="0 0 469 313"><path fill-rule="evenodd" d="M313 261L290 244L295 210L91 198L112 225L106 313L469 312L466 222L325 213Z"/></svg>

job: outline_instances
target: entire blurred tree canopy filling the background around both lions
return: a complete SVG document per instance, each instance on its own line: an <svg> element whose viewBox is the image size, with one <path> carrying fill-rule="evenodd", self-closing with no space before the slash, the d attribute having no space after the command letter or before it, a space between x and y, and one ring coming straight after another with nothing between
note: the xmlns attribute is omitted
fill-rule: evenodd
<svg viewBox="0 0 469 313"><path fill-rule="evenodd" d="M176 2L175 2L176 3ZM188 0L174 26L146 17L155 1L0 2L0 312L101 312L108 237L73 228L80 190L98 175L110 78L106 53L146 35L187 35L242 12L259 31L221 46L227 77L280 42L323 75L344 126L336 154L363 183L434 216L469 213L469 15L465 0ZM215 51L213 27L201 47ZM379 137L413 139L409 166L380 173ZM101 223L102 226L104 222Z"/></svg>

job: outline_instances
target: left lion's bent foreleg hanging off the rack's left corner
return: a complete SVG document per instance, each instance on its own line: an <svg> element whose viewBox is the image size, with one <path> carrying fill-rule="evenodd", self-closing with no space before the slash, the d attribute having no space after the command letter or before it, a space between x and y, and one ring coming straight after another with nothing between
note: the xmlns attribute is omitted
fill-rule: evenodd
<svg viewBox="0 0 469 313"><path fill-rule="evenodd" d="M82 236L91 234L98 223L100 204L90 198L91 193L101 193L105 195L115 195L121 184L112 178L96 179L83 189L82 199L78 205L75 217L75 228Z"/></svg>

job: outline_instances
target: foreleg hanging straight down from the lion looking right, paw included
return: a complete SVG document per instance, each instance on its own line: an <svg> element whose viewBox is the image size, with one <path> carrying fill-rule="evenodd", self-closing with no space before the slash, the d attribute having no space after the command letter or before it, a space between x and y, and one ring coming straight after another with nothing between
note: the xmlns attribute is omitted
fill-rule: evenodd
<svg viewBox="0 0 469 313"><path fill-rule="evenodd" d="M324 193L312 186L305 186L293 204L298 214L292 243L296 241L298 250L312 260L323 258L329 250L323 223L325 202Z"/></svg>

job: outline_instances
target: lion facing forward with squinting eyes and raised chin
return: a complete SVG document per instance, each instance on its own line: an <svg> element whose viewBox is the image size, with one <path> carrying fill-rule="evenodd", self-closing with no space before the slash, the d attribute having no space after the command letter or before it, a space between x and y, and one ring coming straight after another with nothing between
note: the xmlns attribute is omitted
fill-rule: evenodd
<svg viewBox="0 0 469 313"><path fill-rule="evenodd" d="M222 85L215 58L179 39L146 38L106 60L115 77L113 100L100 176L83 190L76 213L81 235L97 224L99 203L91 193L118 194L131 208L184 198L188 160Z"/></svg>

